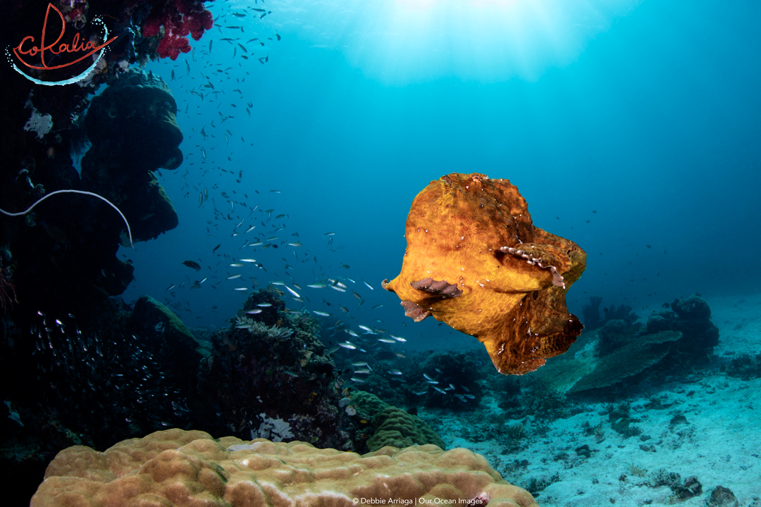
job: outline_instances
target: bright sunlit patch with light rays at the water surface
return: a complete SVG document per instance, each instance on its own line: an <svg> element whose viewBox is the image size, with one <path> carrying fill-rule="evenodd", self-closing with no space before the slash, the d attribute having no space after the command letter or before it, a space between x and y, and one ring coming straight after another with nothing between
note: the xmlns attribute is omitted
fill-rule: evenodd
<svg viewBox="0 0 761 507"><path fill-rule="evenodd" d="M284 2L300 36L338 49L390 86L456 78L537 81L575 61L639 0L366 0ZM274 5L274 4L273 4Z"/></svg>

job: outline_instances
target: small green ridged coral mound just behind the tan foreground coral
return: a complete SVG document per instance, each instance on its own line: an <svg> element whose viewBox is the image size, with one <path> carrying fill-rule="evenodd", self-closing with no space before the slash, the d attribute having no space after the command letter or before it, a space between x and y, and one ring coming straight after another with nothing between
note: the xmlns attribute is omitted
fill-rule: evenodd
<svg viewBox="0 0 761 507"><path fill-rule="evenodd" d="M387 445L405 448L410 445L438 445L446 448L444 441L422 419L396 407L381 410L372 420L375 434L368 439L371 452Z"/></svg>

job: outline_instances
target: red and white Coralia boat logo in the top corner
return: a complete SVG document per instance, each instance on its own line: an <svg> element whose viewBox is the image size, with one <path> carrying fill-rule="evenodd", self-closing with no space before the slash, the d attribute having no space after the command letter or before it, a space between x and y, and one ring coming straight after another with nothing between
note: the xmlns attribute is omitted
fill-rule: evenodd
<svg viewBox="0 0 761 507"><path fill-rule="evenodd" d="M58 14L59 18L61 19L61 31L58 34L58 37L56 40L54 40L52 43L46 43L46 36L48 35L48 21L50 17L50 11L53 10ZM53 17L55 19L55 17ZM96 18L94 21L97 21L103 26L104 36L103 39L108 38L108 29L105 24L103 24L103 21L100 21L100 19ZM110 43L112 43L114 40L116 40L116 36L111 37L110 39L106 40L105 43L102 43L98 45L96 42L94 42L92 39L88 40L87 42L84 41L84 38L82 38L79 34L79 32L74 34L74 38L70 43L61 43L61 40L63 39L63 36L66 32L66 21L65 17L63 17L63 14L61 14L61 11L56 8L53 4L48 4L47 10L45 11L45 20L43 21L43 30L42 34L40 35L40 42L35 43L34 37L27 35L24 37L24 39L21 40L21 43L18 44L18 46L13 48L14 55L16 55L16 59L18 59L18 62L21 63L22 68L28 68L32 69L33 71L55 71L59 69L68 68L72 65L75 65L78 62L81 62L84 59L87 59L91 57L96 52L98 53L97 57L93 59L93 63L90 67L82 71L81 73L71 77L67 76L65 78L51 80L51 81L42 81L37 78L33 78L29 74L25 73L24 71L19 68L15 62L11 61L11 65L13 66L14 70L17 71L19 74L24 76L24 78L27 78L30 81L33 81L37 84L45 84L45 85L56 85L56 84L72 84L76 83L77 81L81 81L85 77L87 77L88 74L97 66L97 62L100 60L100 58L103 56L103 48L108 46ZM47 37L49 39L49 37ZM81 54L83 53L84 54ZM46 53L48 55L52 54L53 56L61 55L62 57L68 57L70 60L65 61L63 63L60 63L59 65L48 65L46 63ZM39 56L40 59L40 65L37 65L37 57ZM51 57L48 57L51 58Z"/></svg>

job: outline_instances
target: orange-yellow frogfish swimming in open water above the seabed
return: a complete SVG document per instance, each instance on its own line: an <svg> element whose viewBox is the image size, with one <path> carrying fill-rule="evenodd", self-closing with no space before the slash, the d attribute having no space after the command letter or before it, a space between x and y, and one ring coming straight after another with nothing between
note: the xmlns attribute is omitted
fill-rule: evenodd
<svg viewBox="0 0 761 507"><path fill-rule="evenodd" d="M383 287L416 322L432 315L486 346L498 372L522 375L568 350L584 328L565 293L587 254L534 227L507 179L452 173L409 210L402 272Z"/></svg>

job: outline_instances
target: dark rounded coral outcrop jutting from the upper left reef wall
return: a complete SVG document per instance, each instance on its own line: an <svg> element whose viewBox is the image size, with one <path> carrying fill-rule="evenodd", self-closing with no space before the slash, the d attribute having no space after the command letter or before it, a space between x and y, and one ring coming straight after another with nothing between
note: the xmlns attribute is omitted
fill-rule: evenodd
<svg viewBox="0 0 761 507"><path fill-rule="evenodd" d="M177 227L177 212L152 172L183 161L177 103L164 80L126 72L93 98L84 128L92 143L81 163L84 188L119 207L136 242Z"/></svg>

